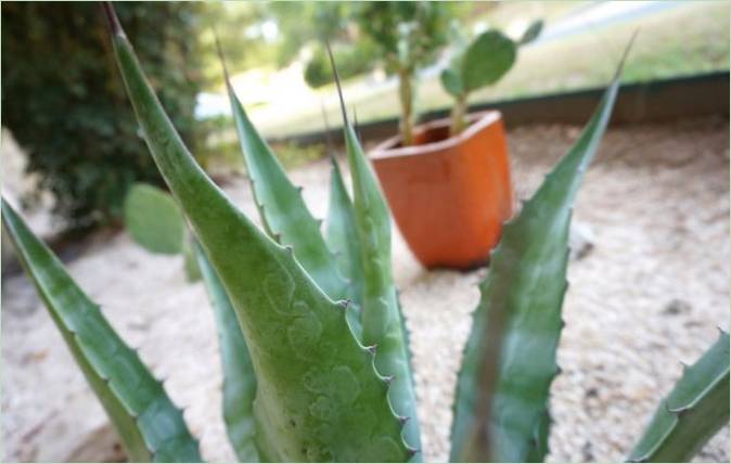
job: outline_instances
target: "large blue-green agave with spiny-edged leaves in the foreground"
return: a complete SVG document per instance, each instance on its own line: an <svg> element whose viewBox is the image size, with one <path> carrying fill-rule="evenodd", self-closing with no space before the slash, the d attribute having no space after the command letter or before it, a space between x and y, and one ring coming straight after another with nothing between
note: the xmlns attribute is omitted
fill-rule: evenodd
<svg viewBox="0 0 731 464"><path fill-rule="evenodd" d="M195 164L112 8L106 11L152 156L200 243L194 249L222 353L223 416L239 460L420 461L388 211L345 109L352 198L333 164L323 236L228 86L262 231ZM459 374L452 461L528 462L548 453L572 204L617 89L618 74L579 140L505 224L492 253ZM162 384L4 201L2 219L129 459L200 461L197 441ZM728 422L728 391L729 337L721 333L658 407L629 459L692 456Z"/></svg>

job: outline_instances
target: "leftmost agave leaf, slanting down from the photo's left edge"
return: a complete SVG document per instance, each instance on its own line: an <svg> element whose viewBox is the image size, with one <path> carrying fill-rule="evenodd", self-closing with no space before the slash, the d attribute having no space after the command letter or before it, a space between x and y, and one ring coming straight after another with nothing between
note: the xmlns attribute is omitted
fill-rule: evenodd
<svg viewBox="0 0 731 464"><path fill-rule="evenodd" d="M201 462L182 411L59 258L2 199L2 223L38 294L133 462Z"/></svg>

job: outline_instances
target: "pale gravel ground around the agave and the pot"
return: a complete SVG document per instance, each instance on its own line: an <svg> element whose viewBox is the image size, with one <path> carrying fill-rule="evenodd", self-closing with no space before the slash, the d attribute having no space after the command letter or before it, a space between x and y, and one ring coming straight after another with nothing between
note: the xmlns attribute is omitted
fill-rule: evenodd
<svg viewBox="0 0 731 464"><path fill-rule="evenodd" d="M551 409L552 462L623 461L658 400L729 321L729 130L726 119L613 129L589 170L575 221L593 247L569 266L562 375ZM526 197L578 129L531 126L509 134ZM329 168L293 172L316 216ZM255 216L248 185L227 190ZM477 301L470 273L423 270L398 233L394 268L412 331L424 454L446 461L456 372ZM113 325L140 347L201 437L204 456L233 461L220 415L214 320L202 285L176 257L152 256L126 234L90 243L70 272ZM24 276L2 287L4 461L114 461L104 414ZM701 461L729 461L724 428Z"/></svg>

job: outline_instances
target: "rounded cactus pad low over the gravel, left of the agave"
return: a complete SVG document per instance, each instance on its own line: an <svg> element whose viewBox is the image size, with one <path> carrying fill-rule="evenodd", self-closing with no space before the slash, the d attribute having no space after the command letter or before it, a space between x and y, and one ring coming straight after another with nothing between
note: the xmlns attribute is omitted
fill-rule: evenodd
<svg viewBox="0 0 731 464"><path fill-rule="evenodd" d="M136 183L125 197L125 224L134 242L149 252L177 255L182 250L185 222L166 192Z"/></svg>

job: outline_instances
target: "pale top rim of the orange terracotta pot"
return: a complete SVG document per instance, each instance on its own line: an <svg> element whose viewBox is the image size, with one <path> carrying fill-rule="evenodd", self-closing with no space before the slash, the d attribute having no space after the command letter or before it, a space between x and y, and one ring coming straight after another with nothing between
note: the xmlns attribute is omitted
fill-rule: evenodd
<svg viewBox="0 0 731 464"><path fill-rule="evenodd" d="M487 109L484 112L470 113L467 115L467 120L472 124L464 129L462 132L454 137L448 139L439 140L438 142L424 143L422 145L411 145L411 146L398 146L395 147L398 143L401 142L401 136L397 134L381 142L373 149L369 155L371 159L386 159L386 158L397 158L397 157L409 157L409 156L422 156L436 152L443 152L449 150L453 146L457 146L467 139L475 137L479 131L485 129L499 121L502 118L502 115L497 109ZM419 125L414 128L414 131L429 131L434 129L440 129L444 127L449 127L451 118L441 118L435 119L422 125Z"/></svg>

